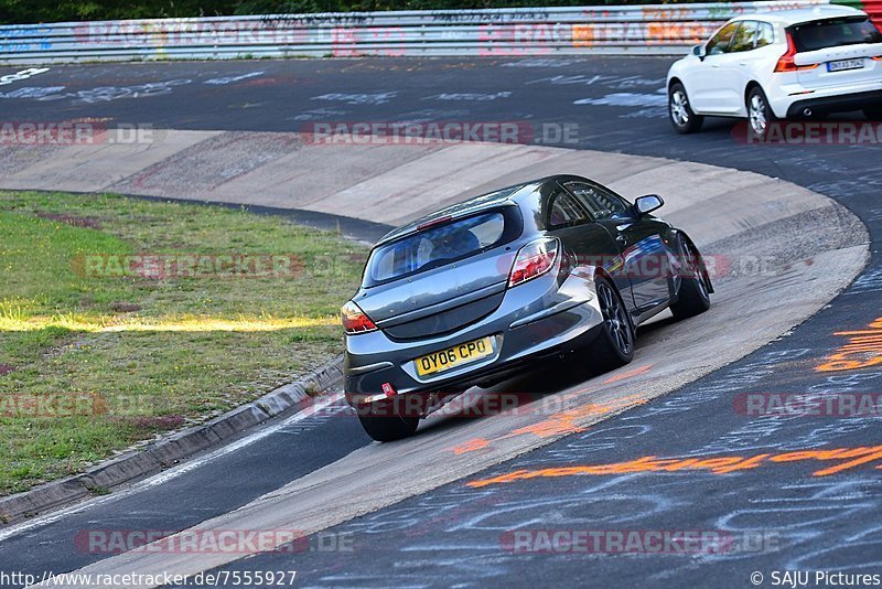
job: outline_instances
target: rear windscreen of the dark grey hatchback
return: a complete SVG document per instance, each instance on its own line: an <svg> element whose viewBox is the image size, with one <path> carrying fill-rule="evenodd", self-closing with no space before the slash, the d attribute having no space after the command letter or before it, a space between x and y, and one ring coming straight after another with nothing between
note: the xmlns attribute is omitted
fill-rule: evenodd
<svg viewBox="0 0 882 589"><path fill-rule="evenodd" d="M374 249L365 271L365 286L376 286L474 256L501 245L509 233L502 211L429 227Z"/></svg>

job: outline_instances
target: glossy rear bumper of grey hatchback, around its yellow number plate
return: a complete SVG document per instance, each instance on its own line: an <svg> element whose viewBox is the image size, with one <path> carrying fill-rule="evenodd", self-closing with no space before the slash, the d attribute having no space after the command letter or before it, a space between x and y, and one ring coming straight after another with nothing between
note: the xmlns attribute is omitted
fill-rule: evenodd
<svg viewBox="0 0 882 589"><path fill-rule="evenodd" d="M443 338L398 342L381 331L346 338L346 399L361 407L385 400L384 389L394 390L394 396L458 393L537 357L583 346L596 335L601 322L593 279L570 276L560 288L553 277L537 279L512 289L488 317ZM438 374L418 374L420 356L481 338L492 338L492 355Z"/></svg>

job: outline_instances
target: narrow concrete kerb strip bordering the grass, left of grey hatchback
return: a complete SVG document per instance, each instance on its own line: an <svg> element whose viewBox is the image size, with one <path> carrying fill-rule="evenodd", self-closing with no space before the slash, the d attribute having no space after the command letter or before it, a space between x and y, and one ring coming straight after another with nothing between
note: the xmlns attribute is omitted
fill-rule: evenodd
<svg viewBox="0 0 882 589"><path fill-rule="evenodd" d="M2 497L0 524L13 524L96 494L107 493L114 488L160 472L203 450L240 436L302 403L311 393L335 385L343 377L342 362L343 357L336 356L298 381L275 388L251 403L205 424L174 432L146 448L104 461L80 474Z"/></svg>

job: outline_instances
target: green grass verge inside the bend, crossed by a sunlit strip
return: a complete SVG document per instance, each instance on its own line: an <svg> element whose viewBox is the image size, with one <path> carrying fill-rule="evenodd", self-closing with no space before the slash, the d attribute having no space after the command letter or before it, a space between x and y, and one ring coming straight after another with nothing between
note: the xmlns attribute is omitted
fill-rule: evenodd
<svg viewBox="0 0 882 589"><path fill-rule="evenodd" d="M132 255L185 261L165 276L114 271L146 259ZM335 355L365 255L237 210L0 192L0 494L206 420ZM229 256L294 261L236 276L203 264Z"/></svg>

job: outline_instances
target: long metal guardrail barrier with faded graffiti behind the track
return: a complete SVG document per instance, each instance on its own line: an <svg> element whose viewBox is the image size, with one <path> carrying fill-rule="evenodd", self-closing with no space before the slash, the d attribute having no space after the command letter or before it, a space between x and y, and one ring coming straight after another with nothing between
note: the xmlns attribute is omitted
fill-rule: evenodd
<svg viewBox="0 0 882 589"><path fill-rule="evenodd" d="M839 1L858 8L882 4L882 0ZM359 55L681 54L734 15L827 3L828 0L794 0L2 25L0 63Z"/></svg>

